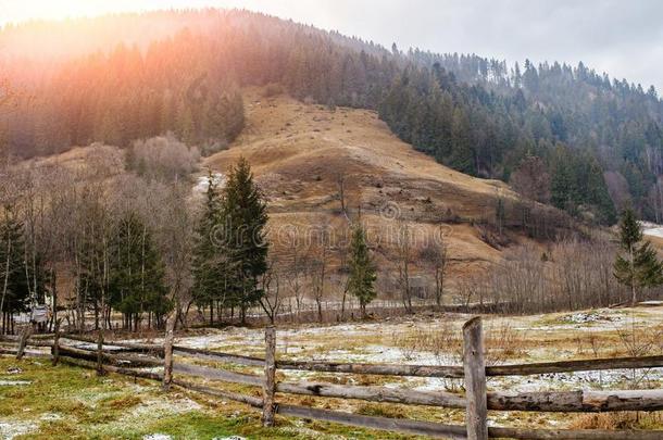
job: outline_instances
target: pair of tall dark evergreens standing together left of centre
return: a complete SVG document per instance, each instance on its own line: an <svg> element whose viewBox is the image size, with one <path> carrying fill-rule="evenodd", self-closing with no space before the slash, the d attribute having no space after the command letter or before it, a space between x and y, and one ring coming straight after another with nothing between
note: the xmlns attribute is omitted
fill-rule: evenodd
<svg viewBox="0 0 663 440"><path fill-rule="evenodd" d="M264 296L261 276L267 271L266 203L253 183L249 163L240 159L223 189L208 176L204 211L197 227L192 261L193 299L209 306L210 324L223 309L247 309Z"/></svg>

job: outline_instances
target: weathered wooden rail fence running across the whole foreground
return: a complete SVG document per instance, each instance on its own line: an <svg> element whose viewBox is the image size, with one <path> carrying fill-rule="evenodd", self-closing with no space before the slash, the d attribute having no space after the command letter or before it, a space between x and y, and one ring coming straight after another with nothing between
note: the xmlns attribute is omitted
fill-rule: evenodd
<svg viewBox="0 0 663 440"><path fill-rule="evenodd" d="M481 319L475 317L463 326L463 366L356 364L315 361L286 361L276 357L276 332L265 329L265 356L253 357L209 350L178 347L173 343L173 325L168 320L163 345L105 341L100 332L97 338L61 336L57 331L45 339L28 337L3 338L17 348L0 348L4 354L35 355L26 347L51 348L52 361L66 362L88 368L118 373L133 377L160 380L164 389L177 386L208 395L235 400L262 411L265 426L274 424L275 414L308 419L339 423L372 429L451 439L605 439L605 440L663 440L663 430L570 430L525 429L488 426L488 411L602 413L618 411L663 411L663 389L617 391L537 391L510 392L486 389L486 378L495 376L527 376L551 373L588 372L614 368L663 367L663 356L597 359L563 361L523 365L486 366ZM70 342L66 342L70 341ZM48 353L46 353L48 354ZM174 362L174 357L178 361ZM197 359L221 364L236 364L264 368L261 375L237 373L180 362ZM145 368L150 368L146 370ZM304 370L333 374L362 374L381 376L414 376L436 378L464 378L465 394L447 391L416 391L380 386L350 386L326 382L277 381L276 372ZM157 373L155 373L157 372ZM201 377L208 380L260 387L261 397L241 394L210 388L184 377ZM320 398L341 398L380 403L400 403L435 407L464 408L465 426L445 425L389 417L350 414L310 406L278 402L278 394L298 394Z"/></svg>

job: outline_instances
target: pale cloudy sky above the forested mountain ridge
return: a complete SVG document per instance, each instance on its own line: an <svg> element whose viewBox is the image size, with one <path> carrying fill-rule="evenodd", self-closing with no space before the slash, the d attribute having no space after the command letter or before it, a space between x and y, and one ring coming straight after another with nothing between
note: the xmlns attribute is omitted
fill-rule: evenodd
<svg viewBox="0 0 663 440"><path fill-rule="evenodd" d="M386 47L396 42L510 63L583 61L663 91L659 0L0 0L0 24L204 7L261 11Z"/></svg>

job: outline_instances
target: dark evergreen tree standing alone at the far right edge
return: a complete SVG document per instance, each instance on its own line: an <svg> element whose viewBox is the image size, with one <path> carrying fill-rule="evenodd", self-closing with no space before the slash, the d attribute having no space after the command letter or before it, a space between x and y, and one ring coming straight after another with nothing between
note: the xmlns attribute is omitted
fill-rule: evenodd
<svg viewBox="0 0 663 440"><path fill-rule="evenodd" d="M663 265L651 243L642 241L642 230L631 210L624 211L620 222L620 247L625 255L617 255L614 276L630 288L631 303L635 305L641 289L663 284Z"/></svg>

